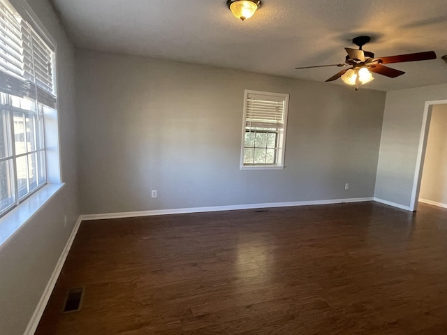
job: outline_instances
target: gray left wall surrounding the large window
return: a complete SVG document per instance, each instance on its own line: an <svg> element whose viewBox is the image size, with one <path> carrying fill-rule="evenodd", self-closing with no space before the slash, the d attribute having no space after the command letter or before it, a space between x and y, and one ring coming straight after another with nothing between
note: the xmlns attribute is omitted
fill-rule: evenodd
<svg viewBox="0 0 447 335"><path fill-rule="evenodd" d="M59 137L66 186L0 248L0 334L23 334L78 219L73 46L47 0L29 1L57 40ZM67 225L64 227L64 214Z"/></svg>

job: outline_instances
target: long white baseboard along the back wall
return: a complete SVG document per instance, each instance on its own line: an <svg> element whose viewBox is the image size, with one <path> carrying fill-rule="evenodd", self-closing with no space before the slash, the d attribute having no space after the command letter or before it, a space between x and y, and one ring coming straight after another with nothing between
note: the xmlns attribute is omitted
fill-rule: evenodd
<svg viewBox="0 0 447 335"><path fill-rule="evenodd" d="M331 200L314 200L314 201L298 201L298 202L268 202L265 204L235 204L230 206L159 209L154 211L126 211L122 213L108 213L108 214L87 214L87 215L81 215L80 218L81 220L102 220L105 218L134 218L138 216L188 214L188 213L201 213L206 211L234 211L237 209L309 206L314 204L341 204L344 202L365 202L373 200L374 200L373 198L351 198L351 199L331 199Z"/></svg>

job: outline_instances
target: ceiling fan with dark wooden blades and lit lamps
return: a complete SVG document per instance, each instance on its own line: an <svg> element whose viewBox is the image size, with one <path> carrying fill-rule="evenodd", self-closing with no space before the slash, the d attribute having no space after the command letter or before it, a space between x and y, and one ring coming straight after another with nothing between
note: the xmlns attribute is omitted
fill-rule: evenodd
<svg viewBox="0 0 447 335"><path fill-rule="evenodd" d="M332 82L342 77L346 84L355 85L356 91L360 84L366 84L374 79L372 72L386 77L395 78L404 74L404 71L388 68L382 64L403 63L405 61L425 61L428 59L436 59L434 51L416 52L414 54L399 54L397 56L378 57L374 58L374 54L369 51L362 50L363 45L371 40L369 36L358 36L353 38L352 42L358 45L358 50L345 47L344 50L348 52L344 63L319 65L319 66L304 66L301 68L322 68L325 66L349 66L349 68L341 70L336 75L332 75L326 82ZM301 68L295 68L299 70Z"/></svg>

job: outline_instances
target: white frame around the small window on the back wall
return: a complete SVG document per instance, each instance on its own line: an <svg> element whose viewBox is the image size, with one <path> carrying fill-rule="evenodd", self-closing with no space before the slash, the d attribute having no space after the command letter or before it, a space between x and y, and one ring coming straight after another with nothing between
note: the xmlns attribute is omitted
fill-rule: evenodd
<svg viewBox="0 0 447 335"><path fill-rule="evenodd" d="M245 148L245 133L247 132L247 101L250 94L258 94L263 96L277 96L279 100L284 101L284 127L277 129L277 152L274 164L259 164L247 165L244 164L244 148ZM240 170L283 170L284 169L284 154L286 151L286 131L287 131L287 114L288 114L288 94L273 93L266 91L254 91L246 89L244 91L244 117L242 118L242 146L240 154Z"/></svg>

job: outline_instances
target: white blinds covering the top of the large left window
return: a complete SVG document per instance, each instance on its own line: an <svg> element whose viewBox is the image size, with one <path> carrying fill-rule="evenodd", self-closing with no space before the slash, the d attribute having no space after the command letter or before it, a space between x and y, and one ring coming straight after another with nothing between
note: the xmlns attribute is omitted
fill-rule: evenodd
<svg viewBox="0 0 447 335"><path fill-rule="evenodd" d="M54 107L53 57L33 27L0 0L0 91Z"/></svg>

